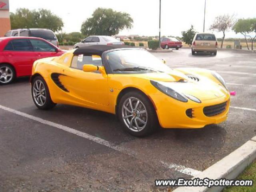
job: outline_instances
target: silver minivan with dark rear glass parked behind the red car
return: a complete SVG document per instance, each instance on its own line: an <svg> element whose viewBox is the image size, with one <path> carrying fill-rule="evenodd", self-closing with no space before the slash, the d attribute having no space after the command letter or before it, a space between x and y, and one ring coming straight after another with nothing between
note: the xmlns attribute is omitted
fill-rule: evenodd
<svg viewBox="0 0 256 192"><path fill-rule="evenodd" d="M58 47L58 39L54 32L52 32L50 29L14 29L8 31L4 36L39 37Z"/></svg>

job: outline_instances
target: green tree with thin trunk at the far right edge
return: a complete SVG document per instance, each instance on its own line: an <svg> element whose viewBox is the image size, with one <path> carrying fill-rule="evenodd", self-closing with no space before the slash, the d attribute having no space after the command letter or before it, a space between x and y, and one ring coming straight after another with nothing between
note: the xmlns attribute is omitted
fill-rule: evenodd
<svg viewBox="0 0 256 192"><path fill-rule="evenodd" d="M241 33L244 35L246 46L247 46L248 50L250 50L249 46L248 46L247 38L246 38L246 37L248 37L248 33L250 33L252 30L250 19L238 19L236 24L233 26L232 30L234 30L234 32L236 32L236 34Z"/></svg>

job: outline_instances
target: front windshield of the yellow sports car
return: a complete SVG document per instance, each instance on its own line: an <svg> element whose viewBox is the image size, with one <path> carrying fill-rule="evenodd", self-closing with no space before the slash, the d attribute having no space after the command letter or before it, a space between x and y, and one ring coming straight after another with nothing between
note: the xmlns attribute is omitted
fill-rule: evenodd
<svg viewBox="0 0 256 192"><path fill-rule="evenodd" d="M172 70L148 51L141 49L108 52L106 59L114 73L168 72Z"/></svg>

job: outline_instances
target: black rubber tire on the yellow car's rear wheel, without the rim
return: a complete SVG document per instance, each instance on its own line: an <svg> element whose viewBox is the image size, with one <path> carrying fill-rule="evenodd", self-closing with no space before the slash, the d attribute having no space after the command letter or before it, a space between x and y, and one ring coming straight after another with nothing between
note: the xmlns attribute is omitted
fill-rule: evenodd
<svg viewBox="0 0 256 192"><path fill-rule="evenodd" d="M38 104L38 101L36 101L36 98L34 96L34 93L35 93L34 92L34 85L35 85L35 83L38 83L38 82L42 82L42 84L44 85L44 88L45 88L45 92L43 94L45 96L45 100L44 100L44 104L42 104L42 105ZM49 92L48 86L47 86L44 78L42 78L41 76L36 76L33 79L32 86L31 86L31 95L32 95L32 99L34 101L34 104L36 105L36 107L38 109L48 110L48 109L51 109L54 106L56 106L56 103L52 102L52 98L50 96L50 92Z"/></svg>

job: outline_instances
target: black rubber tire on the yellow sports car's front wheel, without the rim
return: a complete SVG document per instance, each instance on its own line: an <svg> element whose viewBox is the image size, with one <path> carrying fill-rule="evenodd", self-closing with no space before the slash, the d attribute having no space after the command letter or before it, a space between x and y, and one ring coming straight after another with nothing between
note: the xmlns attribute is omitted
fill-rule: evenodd
<svg viewBox="0 0 256 192"><path fill-rule="evenodd" d="M133 128L128 128L128 125L126 125L126 120L123 118L123 111L125 111L125 109L123 110L123 105L127 102L127 100L129 100L129 98L134 98L134 100L132 102L135 101L135 103L138 102L138 100L140 101L140 103L137 106L138 111L140 110L140 106L142 108L140 110L140 112L144 111L144 109L143 109L144 107L146 109L146 114L144 113L144 115L146 115L146 120L144 119L145 116L143 117L142 114L141 115L137 114L135 117L132 116L131 118L129 117L130 122L132 121L132 118L135 118L135 120L133 120L133 122L132 122L132 124L134 124ZM154 131L156 131L160 127L159 122L158 122L158 117L156 114L156 110L155 110L152 102L147 98L147 96L145 96L144 94L142 94L138 91L131 91L131 92L124 94L124 96L122 96L122 98L120 99L120 102L118 104L118 118L121 121L122 127L124 128L124 130L126 132L130 133L131 135L137 136L137 137L152 134ZM127 118L127 119L129 120L129 118ZM141 118L144 121L146 121L146 124L144 124L144 128L142 128L142 130L140 130L140 131L132 130L132 129L136 128L136 125L142 124L137 118ZM136 121L136 125L135 125L135 121Z"/></svg>

